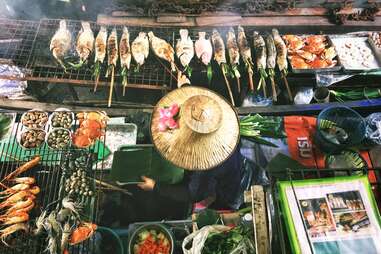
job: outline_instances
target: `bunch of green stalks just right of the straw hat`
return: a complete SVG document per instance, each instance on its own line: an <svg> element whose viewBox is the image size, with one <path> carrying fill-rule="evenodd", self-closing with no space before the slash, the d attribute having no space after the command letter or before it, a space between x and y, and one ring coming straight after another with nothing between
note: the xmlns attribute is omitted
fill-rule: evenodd
<svg viewBox="0 0 381 254"><path fill-rule="evenodd" d="M240 119L239 127L242 137L256 143L273 147L277 146L262 137L286 137L282 130L282 118L280 117L263 117L259 114L247 115Z"/></svg>

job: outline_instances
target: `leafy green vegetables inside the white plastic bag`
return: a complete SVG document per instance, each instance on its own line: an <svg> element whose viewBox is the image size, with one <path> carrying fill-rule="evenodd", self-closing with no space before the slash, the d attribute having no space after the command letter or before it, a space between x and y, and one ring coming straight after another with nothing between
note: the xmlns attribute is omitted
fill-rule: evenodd
<svg viewBox="0 0 381 254"><path fill-rule="evenodd" d="M202 254L254 253L252 228L237 226L229 231L212 233L205 241Z"/></svg>

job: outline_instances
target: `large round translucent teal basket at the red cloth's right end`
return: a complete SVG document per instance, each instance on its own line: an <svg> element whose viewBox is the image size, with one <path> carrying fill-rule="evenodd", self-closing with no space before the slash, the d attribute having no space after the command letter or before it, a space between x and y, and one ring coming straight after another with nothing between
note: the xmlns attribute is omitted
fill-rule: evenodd
<svg viewBox="0 0 381 254"><path fill-rule="evenodd" d="M328 132L332 137L338 137L337 142L328 138ZM318 115L315 144L322 151L340 152L361 144L364 138L365 120L356 111L344 106L329 107Z"/></svg>

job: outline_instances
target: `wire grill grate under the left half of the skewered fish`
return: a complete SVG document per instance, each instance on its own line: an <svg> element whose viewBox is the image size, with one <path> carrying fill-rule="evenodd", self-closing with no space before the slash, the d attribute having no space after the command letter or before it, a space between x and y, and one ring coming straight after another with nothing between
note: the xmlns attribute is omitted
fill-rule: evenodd
<svg viewBox="0 0 381 254"><path fill-rule="evenodd" d="M80 83L80 84L94 84L94 77L92 76L92 65L94 55L90 56L90 62L87 66L79 70L68 69L67 72L64 72L63 68L57 65L54 61L54 58L49 50L49 44L52 36L59 27L60 20L46 19L41 20L40 29L37 34L37 39L35 47L32 53L32 66L33 73L32 77L38 78L50 82L68 82L68 83ZM68 29L72 32L72 48L69 55L75 56L75 38L77 33L81 29L80 21L67 20ZM91 23L92 30L96 36L100 26ZM108 26L108 32L116 27L118 32L118 40L122 34L122 26ZM149 32L152 30L150 27L129 27L130 40L134 40L138 33L141 31ZM167 40L170 43L173 43L173 33L166 28L155 28L155 34L160 38ZM106 62L106 61L105 61ZM102 66L100 85L106 85L110 82L109 79L106 79L106 63ZM121 77L119 75L119 66L116 71L116 82L121 82ZM167 63L163 63L156 56L150 52L150 55L143 66L141 66L139 72L130 71L128 75L128 83L131 87L138 88L152 88L152 89L163 89L165 87L172 86L172 77L168 72L169 66Z"/></svg>

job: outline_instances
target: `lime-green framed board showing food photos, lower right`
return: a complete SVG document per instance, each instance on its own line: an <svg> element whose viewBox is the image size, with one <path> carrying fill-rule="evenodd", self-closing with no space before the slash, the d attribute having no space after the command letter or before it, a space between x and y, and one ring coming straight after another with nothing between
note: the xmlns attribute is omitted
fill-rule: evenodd
<svg viewBox="0 0 381 254"><path fill-rule="evenodd" d="M367 176L278 183L293 253L381 253L381 219Z"/></svg>

